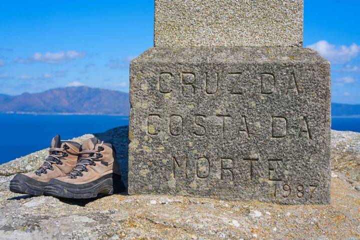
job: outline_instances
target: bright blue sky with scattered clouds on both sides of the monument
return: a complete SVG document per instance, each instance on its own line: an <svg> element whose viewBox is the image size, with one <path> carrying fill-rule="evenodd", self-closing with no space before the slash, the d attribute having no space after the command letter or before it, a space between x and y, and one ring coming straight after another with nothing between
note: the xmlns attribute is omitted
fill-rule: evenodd
<svg viewBox="0 0 360 240"><path fill-rule="evenodd" d="M153 45L153 0L0 0L0 93L85 84L128 91ZM360 103L358 0L305 0L304 46L332 63L332 100Z"/></svg>

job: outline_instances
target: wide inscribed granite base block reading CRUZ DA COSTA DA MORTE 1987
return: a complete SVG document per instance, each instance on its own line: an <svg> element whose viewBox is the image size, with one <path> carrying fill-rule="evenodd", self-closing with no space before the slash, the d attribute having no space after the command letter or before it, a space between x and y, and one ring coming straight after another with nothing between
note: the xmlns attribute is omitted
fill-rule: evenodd
<svg viewBox="0 0 360 240"><path fill-rule="evenodd" d="M328 62L301 49L203 50L131 64L129 194L328 203Z"/></svg>

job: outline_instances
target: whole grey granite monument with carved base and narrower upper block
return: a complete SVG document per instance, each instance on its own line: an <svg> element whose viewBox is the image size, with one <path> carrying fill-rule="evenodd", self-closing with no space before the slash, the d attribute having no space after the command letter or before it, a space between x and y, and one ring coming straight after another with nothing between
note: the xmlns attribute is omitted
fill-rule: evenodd
<svg viewBox="0 0 360 240"><path fill-rule="evenodd" d="M129 194L328 203L330 64L303 0L155 0L130 65Z"/></svg>

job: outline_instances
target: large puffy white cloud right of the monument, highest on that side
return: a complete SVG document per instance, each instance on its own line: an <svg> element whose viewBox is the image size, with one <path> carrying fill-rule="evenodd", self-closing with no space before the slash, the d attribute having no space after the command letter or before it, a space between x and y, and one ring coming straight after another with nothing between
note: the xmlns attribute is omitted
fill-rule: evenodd
<svg viewBox="0 0 360 240"><path fill-rule="evenodd" d="M344 64L356 57L360 52L360 46L355 43L352 43L349 46L336 46L325 40L318 41L307 47L315 49L333 64Z"/></svg>

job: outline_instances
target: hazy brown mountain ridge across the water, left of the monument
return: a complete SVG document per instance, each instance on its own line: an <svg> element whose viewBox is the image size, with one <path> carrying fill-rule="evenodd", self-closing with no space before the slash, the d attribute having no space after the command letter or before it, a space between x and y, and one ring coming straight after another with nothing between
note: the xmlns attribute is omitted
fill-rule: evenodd
<svg viewBox="0 0 360 240"><path fill-rule="evenodd" d="M49 89L17 96L0 94L0 112L128 115L128 93L86 86Z"/></svg>

